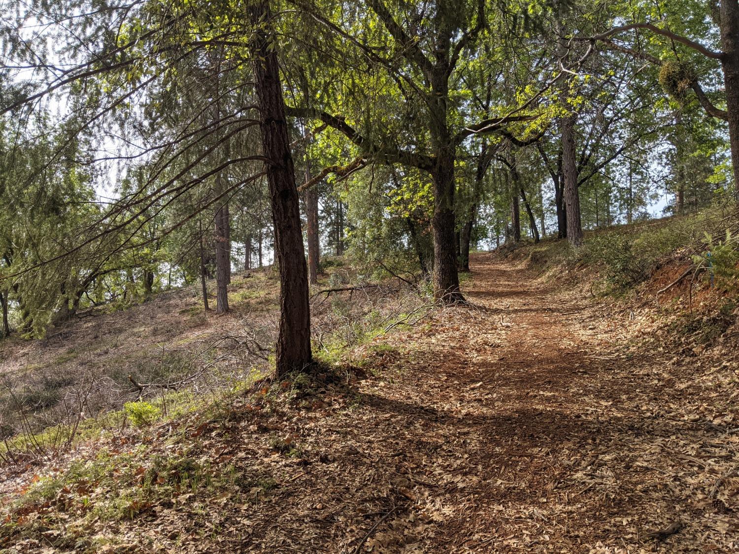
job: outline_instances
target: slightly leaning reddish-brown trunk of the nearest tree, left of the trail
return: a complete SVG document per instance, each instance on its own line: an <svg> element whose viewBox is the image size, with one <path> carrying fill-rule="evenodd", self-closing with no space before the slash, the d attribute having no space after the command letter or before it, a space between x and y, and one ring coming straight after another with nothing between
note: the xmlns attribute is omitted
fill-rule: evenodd
<svg viewBox="0 0 739 554"><path fill-rule="evenodd" d="M276 52L276 33L268 0L249 7L256 29L252 38L259 127L270 189L275 253L280 277L280 321L276 375L302 371L313 361L310 351L308 270L300 225L293 155L285 120L285 100Z"/></svg>

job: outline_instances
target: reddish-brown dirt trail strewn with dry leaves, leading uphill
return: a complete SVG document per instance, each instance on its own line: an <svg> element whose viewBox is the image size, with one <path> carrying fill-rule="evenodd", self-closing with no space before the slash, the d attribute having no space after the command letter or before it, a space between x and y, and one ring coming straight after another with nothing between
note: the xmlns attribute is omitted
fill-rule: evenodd
<svg viewBox="0 0 739 554"><path fill-rule="evenodd" d="M418 551L734 550L739 519L710 488L739 476L738 430L679 419L667 359L624 349L613 315L492 255L472 267L474 307L391 338L412 366L368 394L432 513Z"/></svg>

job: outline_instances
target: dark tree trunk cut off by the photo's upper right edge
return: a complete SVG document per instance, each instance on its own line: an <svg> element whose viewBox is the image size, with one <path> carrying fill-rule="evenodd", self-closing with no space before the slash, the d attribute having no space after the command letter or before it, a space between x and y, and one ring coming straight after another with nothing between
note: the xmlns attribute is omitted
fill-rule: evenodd
<svg viewBox="0 0 739 554"><path fill-rule="evenodd" d="M739 199L739 1L721 0L721 65L726 89L729 143L734 166L735 196Z"/></svg>

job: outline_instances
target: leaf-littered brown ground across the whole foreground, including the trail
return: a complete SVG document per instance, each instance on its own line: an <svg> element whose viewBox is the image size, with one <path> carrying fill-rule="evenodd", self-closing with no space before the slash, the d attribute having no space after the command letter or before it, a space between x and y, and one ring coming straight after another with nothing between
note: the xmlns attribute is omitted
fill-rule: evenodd
<svg viewBox="0 0 739 554"><path fill-rule="evenodd" d="M115 469L35 470L30 480L64 475L64 488L16 507L0 547L737 551L736 354L698 363L640 337L641 315L520 261L483 253L471 266L469 307L361 346L361 367L307 403L265 386L227 417L194 414L72 456ZM129 516L95 511L113 496Z"/></svg>

